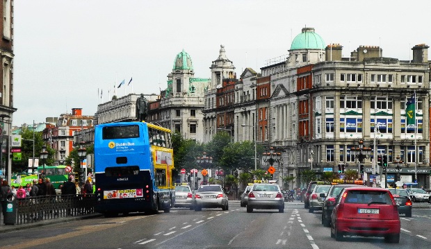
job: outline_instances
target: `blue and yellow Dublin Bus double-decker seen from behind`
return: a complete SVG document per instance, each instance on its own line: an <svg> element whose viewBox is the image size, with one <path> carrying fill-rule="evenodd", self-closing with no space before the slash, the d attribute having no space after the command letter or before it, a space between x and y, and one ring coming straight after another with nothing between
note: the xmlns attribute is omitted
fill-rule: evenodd
<svg viewBox="0 0 431 249"><path fill-rule="evenodd" d="M170 212L175 205L171 132L146 122L95 127L95 211Z"/></svg>

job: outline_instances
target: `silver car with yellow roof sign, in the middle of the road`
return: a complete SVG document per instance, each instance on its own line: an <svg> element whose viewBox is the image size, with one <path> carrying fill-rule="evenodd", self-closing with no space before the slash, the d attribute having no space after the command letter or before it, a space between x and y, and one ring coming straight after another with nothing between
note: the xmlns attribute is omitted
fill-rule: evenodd
<svg viewBox="0 0 431 249"><path fill-rule="evenodd" d="M284 196L280 187L272 183L254 184L248 194L247 213L253 209L278 209L284 212Z"/></svg>

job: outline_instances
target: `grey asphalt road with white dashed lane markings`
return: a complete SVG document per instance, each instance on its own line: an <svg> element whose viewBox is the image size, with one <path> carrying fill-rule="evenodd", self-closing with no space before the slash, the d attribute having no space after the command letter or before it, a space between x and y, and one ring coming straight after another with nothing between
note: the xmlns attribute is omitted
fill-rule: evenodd
<svg viewBox="0 0 431 249"><path fill-rule="evenodd" d="M286 203L284 213L248 214L238 202L230 202L227 211L172 209L8 232L0 234L0 248L428 248L430 208L414 209L411 218L400 216L399 244L364 237L335 241L330 228L320 224L321 212L310 214L303 203Z"/></svg>

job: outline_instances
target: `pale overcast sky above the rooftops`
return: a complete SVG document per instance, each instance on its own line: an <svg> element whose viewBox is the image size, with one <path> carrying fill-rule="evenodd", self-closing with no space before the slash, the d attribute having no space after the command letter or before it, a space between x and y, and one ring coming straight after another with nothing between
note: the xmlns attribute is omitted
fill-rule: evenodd
<svg viewBox="0 0 431 249"><path fill-rule="evenodd" d="M343 56L359 45L409 60L412 46L431 44L429 1L79 1L15 0L13 125L44 122L82 108L94 115L117 96L158 94L183 49L195 77L210 78L220 44L234 62L260 72L287 55L304 26ZM431 51L430 51L431 53ZM125 90L125 92L124 92ZM103 92L103 94L101 94ZM100 96L102 96L100 98Z"/></svg>

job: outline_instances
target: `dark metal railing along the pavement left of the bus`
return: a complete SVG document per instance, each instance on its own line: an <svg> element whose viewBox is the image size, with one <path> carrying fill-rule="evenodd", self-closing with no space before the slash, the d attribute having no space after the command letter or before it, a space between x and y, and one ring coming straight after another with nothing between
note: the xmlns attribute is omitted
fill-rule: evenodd
<svg viewBox="0 0 431 249"><path fill-rule="evenodd" d="M95 212L94 194L36 196L17 199L17 225Z"/></svg>

